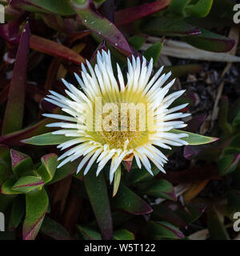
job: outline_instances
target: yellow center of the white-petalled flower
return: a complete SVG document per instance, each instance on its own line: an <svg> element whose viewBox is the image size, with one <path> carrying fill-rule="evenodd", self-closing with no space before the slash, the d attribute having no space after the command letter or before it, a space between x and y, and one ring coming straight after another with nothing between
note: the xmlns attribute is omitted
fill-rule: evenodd
<svg viewBox="0 0 240 256"><path fill-rule="evenodd" d="M149 110L146 98L141 94L133 95L129 91L116 96L117 101L102 98L102 110L96 113L93 102L93 130L87 132L91 138L110 149L130 150L142 146L148 141Z"/></svg>

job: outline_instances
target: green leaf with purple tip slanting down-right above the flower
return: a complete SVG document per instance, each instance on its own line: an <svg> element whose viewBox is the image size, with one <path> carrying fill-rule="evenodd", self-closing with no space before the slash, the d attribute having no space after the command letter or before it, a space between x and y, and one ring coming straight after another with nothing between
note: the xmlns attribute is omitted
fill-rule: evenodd
<svg viewBox="0 0 240 256"><path fill-rule="evenodd" d="M95 12L92 0L86 0L84 4L78 4L77 1L72 0L71 4L87 28L98 33L102 38L105 38L114 48L123 54L130 55L132 53L126 38L124 38L118 28L107 18Z"/></svg>

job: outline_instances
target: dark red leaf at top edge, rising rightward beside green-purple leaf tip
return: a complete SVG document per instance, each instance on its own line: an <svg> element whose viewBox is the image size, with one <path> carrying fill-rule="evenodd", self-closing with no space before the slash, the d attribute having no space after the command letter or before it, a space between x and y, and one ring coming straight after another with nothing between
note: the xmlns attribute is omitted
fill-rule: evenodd
<svg viewBox="0 0 240 256"><path fill-rule="evenodd" d="M115 13L115 24L122 26L130 22L134 22L140 18L149 16L150 14L157 13L159 10L166 8L171 0L158 0L143 4L141 6L134 6L123 10L118 10Z"/></svg>

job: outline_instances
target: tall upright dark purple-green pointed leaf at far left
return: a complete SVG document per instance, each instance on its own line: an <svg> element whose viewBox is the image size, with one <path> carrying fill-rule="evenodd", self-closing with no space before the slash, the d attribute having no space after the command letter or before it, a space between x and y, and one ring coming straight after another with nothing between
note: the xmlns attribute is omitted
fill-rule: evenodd
<svg viewBox="0 0 240 256"><path fill-rule="evenodd" d="M2 134L10 134L11 132L22 128L29 45L30 25L26 22L18 46L18 53L14 65L14 75L10 84L10 91L2 125Z"/></svg>

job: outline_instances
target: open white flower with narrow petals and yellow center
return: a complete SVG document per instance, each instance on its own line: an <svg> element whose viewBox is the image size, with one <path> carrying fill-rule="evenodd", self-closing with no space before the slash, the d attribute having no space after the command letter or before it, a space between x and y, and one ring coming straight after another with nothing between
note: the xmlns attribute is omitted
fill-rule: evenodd
<svg viewBox="0 0 240 256"><path fill-rule="evenodd" d="M86 66L88 70L82 65L82 78L75 74L81 90L62 79L69 97L50 91L46 98L46 101L59 106L67 114L43 114L48 118L62 120L47 125L62 128L53 134L69 137L69 141L58 145L61 150L70 148L58 158L62 160L58 168L67 162L82 158L77 172L85 168L86 174L93 163L97 162L98 175L106 163L111 161L112 182L114 172L121 162L134 157L138 167L145 166L150 174L153 174L150 161L165 173L163 166L167 158L162 154L161 148L170 150L170 146L188 144L182 139L187 137L187 134L171 132L172 129L186 126L178 119L189 114L178 110L182 110L187 104L169 109L184 90L168 94L174 80L166 86L163 85L170 78L170 73L162 74L162 67L151 78L153 60L147 65L145 58L142 63L140 58L134 56L131 61L128 59L126 81L118 64L118 78L115 78L110 51L106 53L102 50L102 54L98 52L94 68L88 61ZM142 104L143 108L146 106L145 110L130 114L127 107L139 104ZM147 124L142 122L146 119ZM131 129L132 126L135 130Z"/></svg>

